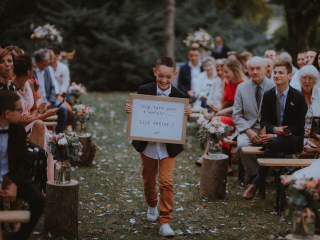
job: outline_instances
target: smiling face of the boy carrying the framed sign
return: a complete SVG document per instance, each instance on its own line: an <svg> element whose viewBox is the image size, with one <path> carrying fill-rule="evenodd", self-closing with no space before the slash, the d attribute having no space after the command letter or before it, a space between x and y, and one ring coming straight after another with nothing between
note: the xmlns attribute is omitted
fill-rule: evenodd
<svg viewBox="0 0 320 240"><path fill-rule="evenodd" d="M153 73L158 87L165 91L169 88L173 78L176 76L177 71L174 71L172 67L166 65L159 65L158 67L153 67Z"/></svg>

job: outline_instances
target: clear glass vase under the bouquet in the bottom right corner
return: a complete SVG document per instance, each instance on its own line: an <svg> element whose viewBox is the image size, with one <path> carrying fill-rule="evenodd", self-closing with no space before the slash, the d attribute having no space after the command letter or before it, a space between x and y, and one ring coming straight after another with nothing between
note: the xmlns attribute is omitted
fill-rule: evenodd
<svg viewBox="0 0 320 240"><path fill-rule="evenodd" d="M314 212L308 208L297 209L292 214L292 234L298 239L312 239L314 235Z"/></svg>

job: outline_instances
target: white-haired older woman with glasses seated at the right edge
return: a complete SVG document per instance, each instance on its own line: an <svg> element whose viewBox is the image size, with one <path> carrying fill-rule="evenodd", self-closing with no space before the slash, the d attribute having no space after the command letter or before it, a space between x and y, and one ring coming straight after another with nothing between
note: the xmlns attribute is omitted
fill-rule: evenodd
<svg viewBox="0 0 320 240"><path fill-rule="evenodd" d="M315 85L320 81L319 71L313 65L302 66L298 72L300 90L305 98L308 110L305 115L304 142L310 137L312 116L320 116L320 88Z"/></svg>

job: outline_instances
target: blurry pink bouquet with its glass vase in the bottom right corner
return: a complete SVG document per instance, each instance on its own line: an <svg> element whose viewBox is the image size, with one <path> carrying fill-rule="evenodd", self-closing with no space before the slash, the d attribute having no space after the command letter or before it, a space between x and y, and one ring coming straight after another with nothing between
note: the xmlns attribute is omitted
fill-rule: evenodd
<svg viewBox="0 0 320 240"><path fill-rule="evenodd" d="M320 178L303 177L292 179L285 176L281 184L290 192L288 204L297 206L292 215L292 234L296 238L312 239L314 235L314 218L317 217L312 210L320 208Z"/></svg>

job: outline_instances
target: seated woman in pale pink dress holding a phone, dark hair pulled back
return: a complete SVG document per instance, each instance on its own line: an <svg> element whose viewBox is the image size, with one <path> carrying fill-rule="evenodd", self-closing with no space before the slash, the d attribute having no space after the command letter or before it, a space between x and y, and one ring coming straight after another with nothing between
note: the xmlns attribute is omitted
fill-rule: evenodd
<svg viewBox="0 0 320 240"><path fill-rule="evenodd" d="M47 142L51 134L48 132L43 119L56 114L59 108L52 108L45 111L43 114L38 114L36 107L36 99L33 94L33 84L28 79L31 78L34 71L35 64L31 57L27 55L20 55L16 57L14 63L14 84L20 88L17 94L22 102L21 123L25 126L25 130L32 129L29 140L39 146L42 146L48 153L47 156L47 178L53 179L53 157L50 153ZM31 84L30 84L31 83Z"/></svg>

